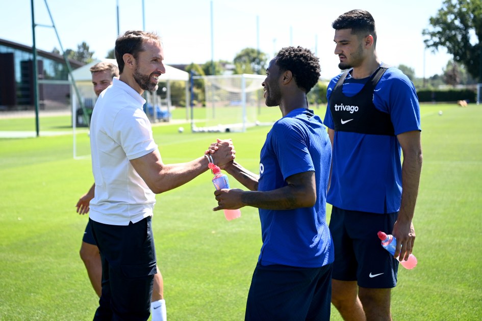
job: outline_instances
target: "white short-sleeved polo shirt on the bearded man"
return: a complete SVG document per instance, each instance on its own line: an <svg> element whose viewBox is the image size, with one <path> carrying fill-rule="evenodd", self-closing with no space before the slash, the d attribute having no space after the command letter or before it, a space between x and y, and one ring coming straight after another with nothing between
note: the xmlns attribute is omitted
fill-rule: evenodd
<svg viewBox="0 0 482 321"><path fill-rule="evenodd" d="M90 123L93 221L129 225L153 215L155 194L130 162L158 148L144 103L138 92L116 77L95 103Z"/></svg>

